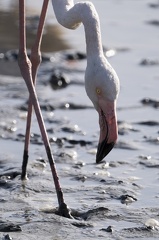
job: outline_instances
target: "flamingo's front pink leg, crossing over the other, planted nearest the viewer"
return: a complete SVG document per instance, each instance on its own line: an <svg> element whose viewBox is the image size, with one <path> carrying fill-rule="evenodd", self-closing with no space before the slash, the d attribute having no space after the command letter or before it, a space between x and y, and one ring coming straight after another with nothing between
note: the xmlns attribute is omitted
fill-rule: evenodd
<svg viewBox="0 0 159 240"><path fill-rule="evenodd" d="M48 160L50 163L50 168L51 168L51 172L52 172L52 176L53 176L53 180L54 180L54 184L55 184L55 189L56 189L56 193L57 193L58 204L59 204L59 214L62 216L71 218L72 216L69 212L69 209L64 202L63 192L62 192L62 189L61 189L61 186L59 183L59 178L57 175L55 162L53 159L53 155L51 153L50 143L48 140L46 128L44 125L39 102L37 99L37 94L36 94L35 87L33 84L32 64L31 64L31 61L29 60L29 58L27 56L27 52L26 52L25 0L19 0L19 59L18 59L18 64L19 64L19 68L20 68L22 77L25 80L25 83L27 85L27 88L28 88L28 91L30 94L31 103L35 110L35 114L37 117L37 121L39 124L43 142L45 145L46 153L47 153Z"/></svg>

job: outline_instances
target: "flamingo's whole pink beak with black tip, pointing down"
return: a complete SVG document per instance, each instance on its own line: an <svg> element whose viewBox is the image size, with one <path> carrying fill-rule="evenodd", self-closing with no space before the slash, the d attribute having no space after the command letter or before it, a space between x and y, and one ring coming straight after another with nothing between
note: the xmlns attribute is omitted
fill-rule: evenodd
<svg viewBox="0 0 159 240"><path fill-rule="evenodd" d="M99 101L100 137L96 155L96 163L103 160L112 150L118 136L115 102Z"/></svg>

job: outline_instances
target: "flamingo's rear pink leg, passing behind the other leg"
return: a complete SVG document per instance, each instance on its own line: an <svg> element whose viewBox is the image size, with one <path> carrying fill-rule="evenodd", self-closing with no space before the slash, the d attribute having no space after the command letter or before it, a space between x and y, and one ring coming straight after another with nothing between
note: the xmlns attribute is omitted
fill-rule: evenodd
<svg viewBox="0 0 159 240"><path fill-rule="evenodd" d="M31 57L30 57L31 64L32 64L31 73L32 73L32 80L34 85L36 84L37 70L41 63L41 51L40 51L41 40L42 40L42 34L44 29L46 12L48 8L48 2L49 0L44 0L43 2L36 39L31 49ZM28 164L28 157L29 157L28 153L29 153L29 142L30 142L31 118L32 118L32 103L29 97L27 123L26 123L26 131L25 131L25 143L24 143L24 152L23 152L22 174L21 174L22 180L27 179L27 164Z"/></svg>

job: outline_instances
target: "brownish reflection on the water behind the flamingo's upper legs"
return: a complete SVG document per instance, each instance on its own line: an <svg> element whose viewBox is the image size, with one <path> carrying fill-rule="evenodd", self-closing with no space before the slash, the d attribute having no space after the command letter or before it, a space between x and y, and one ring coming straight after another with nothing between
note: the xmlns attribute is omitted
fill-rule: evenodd
<svg viewBox="0 0 159 240"><path fill-rule="evenodd" d="M14 3L13 3L14 2ZM7 11L0 11L0 51L5 52L6 50L18 48L18 2L13 1L9 5ZM30 10L30 9L29 9ZM30 15L33 14L32 16ZM31 48L35 39L36 29L38 25L39 15L27 11L27 48ZM36 13L37 14L37 13ZM57 25L45 25L43 40L42 40L42 51L53 52L62 49L67 49L69 46L66 42L61 39L61 30Z"/></svg>

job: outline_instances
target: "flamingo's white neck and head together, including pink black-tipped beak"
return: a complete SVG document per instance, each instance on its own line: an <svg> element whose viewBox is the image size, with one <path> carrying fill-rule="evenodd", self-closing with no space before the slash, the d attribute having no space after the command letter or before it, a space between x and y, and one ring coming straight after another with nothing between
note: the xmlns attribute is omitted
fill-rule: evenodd
<svg viewBox="0 0 159 240"><path fill-rule="evenodd" d="M75 29L81 23L84 25L87 51L85 88L99 113L100 139L96 159L99 162L117 139L116 99L119 79L104 56L100 21L94 5L89 1L74 4L73 0L52 0L52 3L61 25L69 29Z"/></svg>

